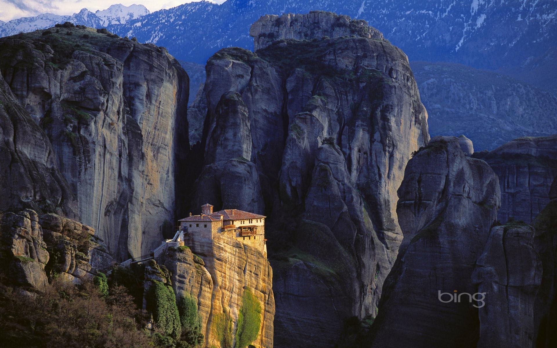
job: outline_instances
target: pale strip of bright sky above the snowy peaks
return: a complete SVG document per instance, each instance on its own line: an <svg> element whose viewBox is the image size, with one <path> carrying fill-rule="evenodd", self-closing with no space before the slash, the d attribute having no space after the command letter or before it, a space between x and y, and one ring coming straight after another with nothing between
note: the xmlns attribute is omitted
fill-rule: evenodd
<svg viewBox="0 0 557 348"><path fill-rule="evenodd" d="M74 14L82 8L87 8L91 12L97 9L106 9L110 5L121 3L125 6L131 4L143 4L150 12L157 11L161 8L170 8L187 2L197 0L0 0L0 20L7 22L14 18L37 16L40 13L54 14ZM223 3L225 0L211 0L217 3Z"/></svg>

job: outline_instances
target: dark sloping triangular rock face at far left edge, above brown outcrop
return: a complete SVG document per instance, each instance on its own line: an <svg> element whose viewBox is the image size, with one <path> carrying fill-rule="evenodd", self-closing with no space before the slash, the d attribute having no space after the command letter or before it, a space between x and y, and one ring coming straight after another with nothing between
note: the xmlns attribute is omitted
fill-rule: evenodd
<svg viewBox="0 0 557 348"><path fill-rule="evenodd" d="M0 210L35 209L74 217L77 202L47 135L0 77Z"/></svg>

